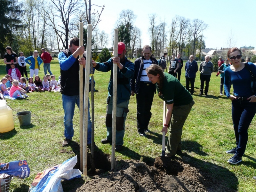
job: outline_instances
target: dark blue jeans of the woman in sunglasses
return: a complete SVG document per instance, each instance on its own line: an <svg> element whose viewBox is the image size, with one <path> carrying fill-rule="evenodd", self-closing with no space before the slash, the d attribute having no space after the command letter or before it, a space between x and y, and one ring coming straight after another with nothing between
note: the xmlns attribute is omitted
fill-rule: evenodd
<svg viewBox="0 0 256 192"><path fill-rule="evenodd" d="M248 127L256 113L256 102L232 101L232 120L236 137L236 155L242 157L248 140Z"/></svg>

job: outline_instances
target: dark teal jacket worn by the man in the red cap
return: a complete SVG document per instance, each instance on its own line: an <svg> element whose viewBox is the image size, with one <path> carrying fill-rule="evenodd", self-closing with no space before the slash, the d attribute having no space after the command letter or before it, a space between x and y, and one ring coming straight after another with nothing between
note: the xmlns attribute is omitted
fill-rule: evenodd
<svg viewBox="0 0 256 192"><path fill-rule="evenodd" d="M125 60L121 62L124 66L123 69L117 67L117 100L116 103L122 103L126 100L130 100L131 87L130 81L134 76L134 64L125 57ZM111 70L110 81L108 83L108 95L113 95L113 58L103 63L97 63L95 69L102 72L108 72Z"/></svg>

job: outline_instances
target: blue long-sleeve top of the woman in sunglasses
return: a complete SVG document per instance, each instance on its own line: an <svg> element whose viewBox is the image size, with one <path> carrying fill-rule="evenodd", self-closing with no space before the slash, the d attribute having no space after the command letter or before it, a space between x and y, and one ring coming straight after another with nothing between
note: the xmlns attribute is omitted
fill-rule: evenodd
<svg viewBox="0 0 256 192"><path fill-rule="evenodd" d="M248 63L248 66L253 74L256 74L256 66ZM252 92L251 88L251 74L244 67L240 71L232 71L230 66L224 70L224 90L229 98L229 80L231 80L234 88L234 95L239 97L251 97L256 93Z"/></svg>

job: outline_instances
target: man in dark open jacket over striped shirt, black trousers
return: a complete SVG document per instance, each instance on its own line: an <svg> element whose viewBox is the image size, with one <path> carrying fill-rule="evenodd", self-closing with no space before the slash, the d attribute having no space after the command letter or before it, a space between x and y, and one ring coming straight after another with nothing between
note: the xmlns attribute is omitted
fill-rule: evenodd
<svg viewBox="0 0 256 192"><path fill-rule="evenodd" d="M137 100L137 129L140 136L146 136L149 132L148 123L151 118L151 105L156 92L156 85L149 81L146 68L158 61L151 56L151 47L145 45L142 48L142 57L134 61L134 76L131 79L132 96L136 93Z"/></svg>

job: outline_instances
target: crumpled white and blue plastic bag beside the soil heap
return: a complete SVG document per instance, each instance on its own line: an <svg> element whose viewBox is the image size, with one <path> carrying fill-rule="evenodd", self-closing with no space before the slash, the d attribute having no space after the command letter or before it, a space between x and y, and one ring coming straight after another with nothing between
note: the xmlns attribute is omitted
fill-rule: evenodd
<svg viewBox="0 0 256 192"><path fill-rule="evenodd" d="M72 180L81 177L79 169L73 169L77 163L74 156L60 165L44 170L36 175L28 192L63 192L61 180Z"/></svg>

